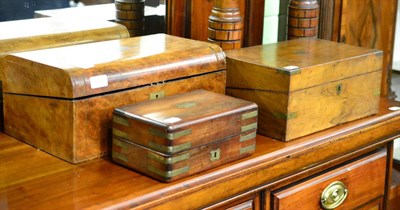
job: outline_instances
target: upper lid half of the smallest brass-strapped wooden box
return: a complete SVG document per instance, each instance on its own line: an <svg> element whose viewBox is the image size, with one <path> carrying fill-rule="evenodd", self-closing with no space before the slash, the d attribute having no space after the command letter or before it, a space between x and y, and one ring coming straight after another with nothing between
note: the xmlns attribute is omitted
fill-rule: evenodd
<svg viewBox="0 0 400 210"><path fill-rule="evenodd" d="M206 90L116 108L113 135L164 154L243 135L254 138L257 104Z"/></svg>

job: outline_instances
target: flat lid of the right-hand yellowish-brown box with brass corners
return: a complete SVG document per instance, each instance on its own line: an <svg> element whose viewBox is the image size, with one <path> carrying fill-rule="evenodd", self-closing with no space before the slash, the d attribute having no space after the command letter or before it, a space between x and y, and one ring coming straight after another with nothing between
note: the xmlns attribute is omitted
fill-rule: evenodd
<svg viewBox="0 0 400 210"><path fill-rule="evenodd" d="M382 55L316 38L226 51L227 87L288 93L381 70Z"/></svg>

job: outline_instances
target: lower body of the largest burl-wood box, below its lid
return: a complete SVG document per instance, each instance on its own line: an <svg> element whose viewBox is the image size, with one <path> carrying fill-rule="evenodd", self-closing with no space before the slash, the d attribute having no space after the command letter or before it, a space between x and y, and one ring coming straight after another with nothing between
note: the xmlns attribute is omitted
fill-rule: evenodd
<svg viewBox="0 0 400 210"><path fill-rule="evenodd" d="M225 79L225 71L217 71L76 100L5 93L4 131L67 161L82 162L109 151L116 107L149 100L161 91L165 96L196 89L223 94Z"/></svg>

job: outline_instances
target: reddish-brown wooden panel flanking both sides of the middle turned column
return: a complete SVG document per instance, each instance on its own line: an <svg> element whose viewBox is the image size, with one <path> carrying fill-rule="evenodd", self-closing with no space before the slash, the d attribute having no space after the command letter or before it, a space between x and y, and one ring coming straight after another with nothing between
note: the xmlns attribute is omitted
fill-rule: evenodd
<svg viewBox="0 0 400 210"><path fill-rule="evenodd" d="M196 40L207 40L208 17L212 0L174 0L167 2L167 33ZM262 43L264 1L239 0L244 31L242 46Z"/></svg>

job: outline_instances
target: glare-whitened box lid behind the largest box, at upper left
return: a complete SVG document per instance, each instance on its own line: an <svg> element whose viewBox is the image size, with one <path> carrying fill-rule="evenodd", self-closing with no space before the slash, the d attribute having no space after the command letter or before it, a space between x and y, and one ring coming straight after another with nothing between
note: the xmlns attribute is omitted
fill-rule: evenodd
<svg viewBox="0 0 400 210"><path fill-rule="evenodd" d="M128 37L124 26L109 21L59 18L5 21L0 22L0 56Z"/></svg>

